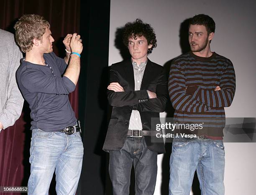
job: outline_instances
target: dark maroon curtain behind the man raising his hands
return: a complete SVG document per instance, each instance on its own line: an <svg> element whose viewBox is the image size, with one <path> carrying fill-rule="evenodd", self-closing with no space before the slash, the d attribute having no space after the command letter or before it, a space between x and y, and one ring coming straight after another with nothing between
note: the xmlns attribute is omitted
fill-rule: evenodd
<svg viewBox="0 0 256 195"><path fill-rule="evenodd" d="M54 52L64 57L63 38L67 33L79 33L80 0L1 0L0 28L14 33L13 25L23 14L38 14L49 21L55 39ZM69 95L69 100L77 116L78 86ZM30 110L25 102L23 112L15 125L0 133L0 186L27 185L30 173L29 114Z"/></svg>

